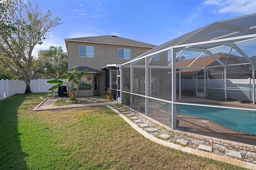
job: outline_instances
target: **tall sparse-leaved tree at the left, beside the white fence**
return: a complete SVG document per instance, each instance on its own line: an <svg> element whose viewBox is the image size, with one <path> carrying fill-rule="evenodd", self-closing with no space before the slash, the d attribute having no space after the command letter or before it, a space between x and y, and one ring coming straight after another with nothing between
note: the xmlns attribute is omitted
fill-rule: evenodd
<svg viewBox="0 0 256 170"><path fill-rule="evenodd" d="M50 29L59 24L60 18L52 16L42 4L23 0L0 3L0 62L25 81L25 93L31 93L34 46L42 44Z"/></svg>

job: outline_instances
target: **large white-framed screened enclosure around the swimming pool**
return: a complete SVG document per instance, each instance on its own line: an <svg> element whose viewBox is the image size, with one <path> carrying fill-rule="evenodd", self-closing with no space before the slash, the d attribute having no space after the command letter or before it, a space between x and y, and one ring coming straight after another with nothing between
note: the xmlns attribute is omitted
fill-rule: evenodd
<svg viewBox="0 0 256 170"><path fill-rule="evenodd" d="M255 145L255 63L256 14L250 14L102 69L114 99L167 127L225 138L217 134L224 127L223 134L235 136L229 140Z"/></svg>

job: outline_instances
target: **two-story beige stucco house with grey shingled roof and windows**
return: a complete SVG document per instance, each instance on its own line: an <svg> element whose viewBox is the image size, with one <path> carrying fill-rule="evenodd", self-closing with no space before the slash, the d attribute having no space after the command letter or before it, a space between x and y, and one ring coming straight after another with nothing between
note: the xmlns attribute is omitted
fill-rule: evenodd
<svg viewBox="0 0 256 170"><path fill-rule="evenodd" d="M68 70L74 65L77 71L88 69L81 81L92 88L78 87L78 96L104 95L105 70L108 64L122 64L145 53L156 45L138 42L118 36L96 36L65 39L68 51Z"/></svg>

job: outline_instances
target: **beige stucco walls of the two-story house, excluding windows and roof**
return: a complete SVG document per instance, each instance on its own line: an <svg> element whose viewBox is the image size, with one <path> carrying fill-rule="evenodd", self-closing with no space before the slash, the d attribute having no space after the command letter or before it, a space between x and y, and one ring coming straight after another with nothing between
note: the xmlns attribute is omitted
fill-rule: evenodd
<svg viewBox="0 0 256 170"><path fill-rule="evenodd" d="M94 46L94 57L79 57L79 45ZM76 65L76 67L88 66L103 72L103 74L86 73L88 75L92 75L92 77L98 76L98 91L94 91L93 87L92 91L79 91L77 96L104 95L105 75L104 70L101 68L107 64L122 64L129 61L129 59L118 59L118 48L130 49L131 59L152 49L147 47L132 47L125 45L68 42L68 69L72 69L74 65ZM92 86L94 86L94 78L92 80Z"/></svg>

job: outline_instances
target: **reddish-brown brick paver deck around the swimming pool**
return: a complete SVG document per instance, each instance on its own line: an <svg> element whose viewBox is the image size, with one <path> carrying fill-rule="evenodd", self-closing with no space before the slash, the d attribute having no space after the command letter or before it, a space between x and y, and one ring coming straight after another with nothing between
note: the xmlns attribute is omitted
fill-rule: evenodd
<svg viewBox="0 0 256 170"><path fill-rule="evenodd" d="M242 108L250 108L256 109L256 105L252 105L249 103L239 103L235 101L220 101L220 100L212 100L205 99L203 97L186 97L182 96L181 100L177 100L177 102L183 103L200 103L200 104L213 104L213 105L223 105L223 106L232 106L232 107L242 107ZM170 123L170 113L165 111L159 103L150 103L150 112L148 117L162 123L167 127L171 127ZM254 149L256 149L256 132L255 134L240 132L237 130L233 130L227 127L224 127L214 121L193 117L188 115L178 115L179 127L176 130L180 130L183 132L189 132L194 135L202 135L204 138L209 140L217 140L217 141L225 141L226 143L232 145L240 145L249 144L252 145ZM203 120L209 121L209 123L203 123ZM246 126L246 125L245 125Z"/></svg>

